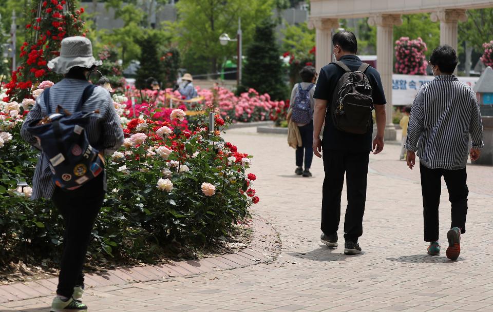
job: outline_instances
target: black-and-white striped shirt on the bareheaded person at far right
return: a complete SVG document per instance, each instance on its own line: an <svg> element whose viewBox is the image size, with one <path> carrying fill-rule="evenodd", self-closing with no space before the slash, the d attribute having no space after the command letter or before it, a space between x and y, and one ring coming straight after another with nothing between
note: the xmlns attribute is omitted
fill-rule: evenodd
<svg viewBox="0 0 493 312"><path fill-rule="evenodd" d="M476 94L454 75L440 75L418 91L404 148L418 151L420 163L435 169L462 169L472 148L483 148Z"/></svg>

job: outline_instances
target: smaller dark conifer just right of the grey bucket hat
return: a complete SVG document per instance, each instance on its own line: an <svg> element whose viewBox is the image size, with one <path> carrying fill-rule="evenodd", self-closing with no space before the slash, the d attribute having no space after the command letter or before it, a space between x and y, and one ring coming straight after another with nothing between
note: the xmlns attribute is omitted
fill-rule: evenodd
<svg viewBox="0 0 493 312"><path fill-rule="evenodd" d="M140 68L137 70L135 85L139 89L149 89L150 77L158 82L165 80L164 67L159 51L160 38L155 31L149 31L145 36L138 38L137 43L142 48Z"/></svg>

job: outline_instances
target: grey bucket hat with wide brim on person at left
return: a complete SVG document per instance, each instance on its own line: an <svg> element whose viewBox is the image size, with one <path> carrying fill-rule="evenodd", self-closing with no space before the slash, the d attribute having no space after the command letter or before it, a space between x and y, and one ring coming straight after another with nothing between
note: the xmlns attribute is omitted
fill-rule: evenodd
<svg viewBox="0 0 493 312"><path fill-rule="evenodd" d="M58 74L66 74L70 68L79 66L91 68L103 62L96 61L92 56L92 44L86 37L74 36L62 40L60 56L48 62L48 68Z"/></svg>

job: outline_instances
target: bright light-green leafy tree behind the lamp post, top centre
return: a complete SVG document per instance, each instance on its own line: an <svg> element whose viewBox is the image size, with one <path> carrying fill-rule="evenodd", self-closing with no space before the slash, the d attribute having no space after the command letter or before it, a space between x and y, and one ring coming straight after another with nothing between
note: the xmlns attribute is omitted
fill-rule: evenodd
<svg viewBox="0 0 493 312"><path fill-rule="evenodd" d="M184 55L183 66L194 73L196 63L193 62L201 59L198 65L208 65L207 70L215 73L227 57L236 55L235 43L219 44L221 33L234 38L241 17L243 44L247 46L256 22L271 16L275 3L273 0L180 0L176 6L178 22L172 30Z"/></svg>

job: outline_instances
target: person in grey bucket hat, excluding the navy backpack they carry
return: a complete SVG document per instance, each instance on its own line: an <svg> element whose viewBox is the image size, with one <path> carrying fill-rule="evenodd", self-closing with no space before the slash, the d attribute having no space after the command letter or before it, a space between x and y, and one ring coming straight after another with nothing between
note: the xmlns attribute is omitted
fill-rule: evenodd
<svg viewBox="0 0 493 312"><path fill-rule="evenodd" d="M84 90L91 86L87 82L87 74L100 64L101 61L97 61L92 56L92 45L87 38L75 36L62 40L60 56L48 63L48 68L52 71L64 74L64 79L50 88L51 111L55 111L60 105L73 113L82 99ZM91 89L92 87L88 88ZM100 152L111 154L123 143L120 118L113 106L111 95L103 87L96 86L92 89L92 93L86 92L86 99L82 111L98 111L89 117L91 120L85 128L87 138L91 146ZM44 96L37 96L36 104L28 113L21 134L26 142L40 148L36 138L27 128L32 121L46 116ZM80 152L78 146L72 148L74 155L80 155ZM87 170L89 172L91 168ZM77 173L79 172L68 172L66 179L75 179ZM31 199L51 199L53 205L62 214L65 224L59 283L56 297L51 304L51 312L87 311L87 306L81 302L84 290L82 267L94 220L103 204L105 192L106 173L97 175L75 190L67 191L56 186L52 181L50 160L44 157L43 152L41 153L34 172Z"/></svg>

